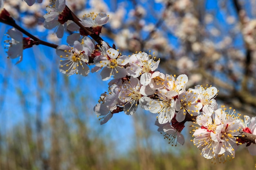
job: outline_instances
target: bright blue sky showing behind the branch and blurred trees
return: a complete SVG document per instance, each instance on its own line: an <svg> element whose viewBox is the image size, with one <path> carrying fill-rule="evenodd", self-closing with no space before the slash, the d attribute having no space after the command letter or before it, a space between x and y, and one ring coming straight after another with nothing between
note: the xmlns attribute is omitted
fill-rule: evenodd
<svg viewBox="0 0 256 170"><path fill-rule="evenodd" d="M106 2L110 4L110 1ZM160 4L154 4L147 8L161 10L161 7ZM132 8L132 6L128 5L127 10L129 8ZM220 27L223 31L222 34L225 34L227 26L225 24L225 16L227 16L227 11L217 10L218 5L216 1L212 0L207 1L206 8L209 11L212 10L215 12L220 25L222 25L222 27ZM234 11L228 12L234 13ZM146 21L156 22L150 15L146 17ZM0 34L4 35L9 28L9 26L0 24ZM29 32L38 33L39 37L45 37L45 33L36 32L35 30L29 30ZM3 46L3 40L5 38L6 36L2 36L2 46L0 47L2 51L6 51ZM113 43L106 37L103 37L103 39L109 44ZM173 36L170 36L170 41L173 42L174 46L178 44L177 38ZM64 44L65 40L63 40L62 43ZM241 37L237 38L236 44L243 44ZM118 46L118 44L116 45ZM125 115L123 112L115 114L108 123L101 126L97 116L93 112L93 107L97 104L100 94L107 91L108 82L101 81L99 73L90 73L88 77L82 77L81 75L65 77L65 75L58 70L58 60L59 58L55 54L55 49L45 46L34 46L31 49L26 49L24 51L23 61L18 65L15 65L16 61L7 59L5 53L1 53L0 82L2 82L2 84L0 84L0 130L4 132L17 123L25 122L27 115L30 115L32 119L34 119L39 102L38 97L36 97L38 93L40 93L43 101L40 103L40 110L42 110L41 116L44 120L47 120L52 107L49 91L52 89L51 81L54 73L54 91L56 91L55 97L57 97L58 100L56 102L56 110L58 110L59 113L65 115L67 118L72 117L70 106L73 104L70 103L69 95L74 92L77 107L81 106L81 108L85 108L84 111L79 109L80 115L90 115L88 116L88 121L85 122L86 124L89 124L91 128L99 130L100 135L110 135L113 140L118 141L117 150L125 151L127 148L131 148L134 143L132 140L134 136L134 118L132 116ZM43 81L43 87L40 86L38 79ZM22 97L24 97L24 103L22 103ZM87 99L85 101L86 104L80 100L81 97ZM140 112L141 110L137 113ZM27 115L24 113L27 113ZM147 113L146 116L149 117L153 125L155 115ZM157 127L154 125L153 130L157 131ZM160 134L157 135L157 138L159 138L159 140L155 141L156 148L163 147L163 150L166 150L169 145L162 144L167 144L168 142L164 141Z"/></svg>

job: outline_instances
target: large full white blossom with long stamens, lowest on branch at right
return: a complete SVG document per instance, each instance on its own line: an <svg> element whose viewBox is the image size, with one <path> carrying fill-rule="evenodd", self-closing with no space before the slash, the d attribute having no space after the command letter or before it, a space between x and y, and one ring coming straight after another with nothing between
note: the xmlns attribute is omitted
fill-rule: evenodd
<svg viewBox="0 0 256 170"><path fill-rule="evenodd" d="M200 128L193 133L193 143L206 159L219 158L226 161L226 156L235 157L236 135L241 128L240 119L232 113L225 112L226 108L215 110L212 117L208 114L199 115L196 119Z"/></svg>

